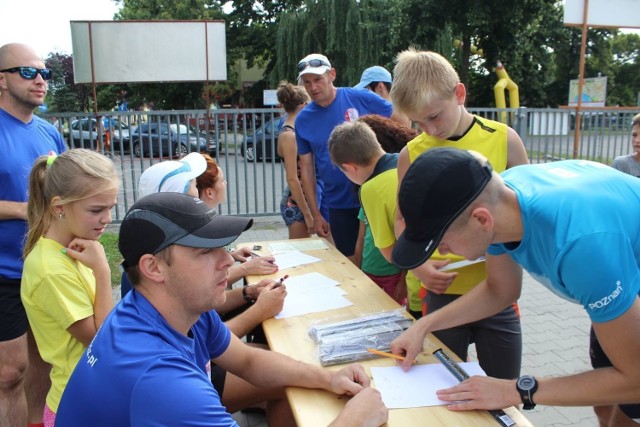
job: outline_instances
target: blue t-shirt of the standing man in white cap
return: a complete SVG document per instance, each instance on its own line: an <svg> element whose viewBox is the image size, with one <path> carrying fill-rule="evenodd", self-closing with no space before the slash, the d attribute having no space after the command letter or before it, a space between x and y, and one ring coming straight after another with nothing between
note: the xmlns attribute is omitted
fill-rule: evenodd
<svg viewBox="0 0 640 427"><path fill-rule="evenodd" d="M389 117L391 103L373 92L346 87L337 88L336 99L328 107L315 102L307 105L296 117L298 155L312 153L317 179L324 184L326 204L332 209L360 206L354 185L333 163L329 155L329 136L341 123L353 122L365 114Z"/></svg>

